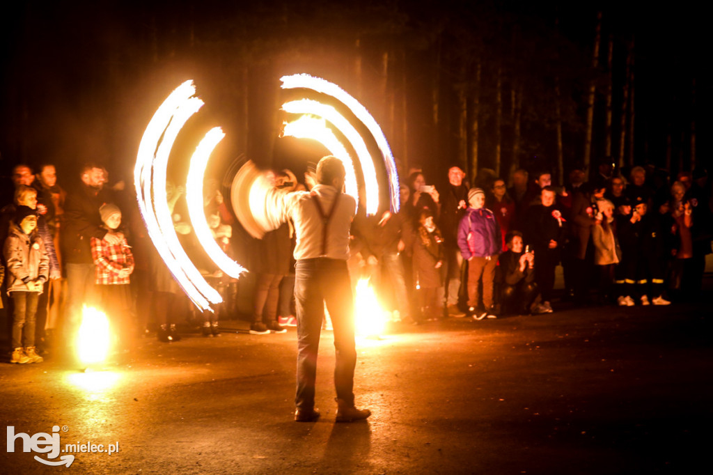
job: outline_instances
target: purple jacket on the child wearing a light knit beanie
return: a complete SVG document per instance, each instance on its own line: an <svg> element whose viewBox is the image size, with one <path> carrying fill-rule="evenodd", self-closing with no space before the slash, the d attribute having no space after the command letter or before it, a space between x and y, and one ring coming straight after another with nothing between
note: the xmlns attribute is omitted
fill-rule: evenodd
<svg viewBox="0 0 713 475"><path fill-rule="evenodd" d="M501 251L500 225L491 210L468 207L458 225L458 247L463 259L491 257Z"/></svg>

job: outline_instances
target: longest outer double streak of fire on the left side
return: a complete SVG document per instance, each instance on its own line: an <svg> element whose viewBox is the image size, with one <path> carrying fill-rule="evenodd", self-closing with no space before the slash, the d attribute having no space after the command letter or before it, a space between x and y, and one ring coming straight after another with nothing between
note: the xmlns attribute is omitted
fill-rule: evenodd
<svg viewBox="0 0 713 475"><path fill-rule="evenodd" d="M180 245L166 200L170 150L185 122L203 105L194 94L193 82L186 81L170 93L151 118L139 145L134 185L146 230L159 255L195 305L210 310L210 302L222 302L222 298L200 275Z"/></svg>

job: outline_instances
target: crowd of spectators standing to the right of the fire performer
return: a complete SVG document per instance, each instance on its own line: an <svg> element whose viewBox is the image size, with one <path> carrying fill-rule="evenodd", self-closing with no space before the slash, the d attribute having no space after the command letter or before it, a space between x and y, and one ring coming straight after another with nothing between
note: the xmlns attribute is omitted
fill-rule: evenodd
<svg viewBox="0 0 713 475"><path fill-rule="evenodd" d="M399 213L355 220L353 273L383 280L378 249L394 243L399 266L386 272L394 288L375 288L394 319L416 324L553 312L568 301L632 306L696 298L713 234L707 170L669 178L640 166L622 173L602 160L592 179L585 176L576 168L567 183L553 185L548 170L518 169L508 188L481 170L471 188L453 165L448 184L437 188L411 170ZM564 288L555 292L558 266ZM394 298L404 294L401 282L408 307Z"/></svg>

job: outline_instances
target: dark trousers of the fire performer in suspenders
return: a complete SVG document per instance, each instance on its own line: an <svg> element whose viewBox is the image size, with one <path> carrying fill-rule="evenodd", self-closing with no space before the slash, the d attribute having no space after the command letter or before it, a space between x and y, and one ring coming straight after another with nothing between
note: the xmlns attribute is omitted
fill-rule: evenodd
<svg viewBox="0 0 713 475"><path fill-rule="evenodd" d="M295 265L294 300L297 306L297 394L298 409L314 407L317 350L324 320L324 304L334 327L334 386L337 398L354 404L354 297L349 270L344 260L298 260Z"/></svg>

